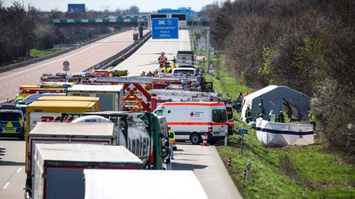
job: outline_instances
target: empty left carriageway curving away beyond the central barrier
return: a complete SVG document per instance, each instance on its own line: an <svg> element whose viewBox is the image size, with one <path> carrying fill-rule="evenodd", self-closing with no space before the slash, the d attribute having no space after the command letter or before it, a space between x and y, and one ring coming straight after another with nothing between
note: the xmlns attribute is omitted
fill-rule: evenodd
<svg viewBox="0 0 355 199"><path fill-rule="evenodd" d="M14 98L19 85L37 83L43 73L63 72L65 60L70 63L69 73L82 72L133 43L132 35L133 31L114 34L60 56L0 73L0 102Z"/></svg>

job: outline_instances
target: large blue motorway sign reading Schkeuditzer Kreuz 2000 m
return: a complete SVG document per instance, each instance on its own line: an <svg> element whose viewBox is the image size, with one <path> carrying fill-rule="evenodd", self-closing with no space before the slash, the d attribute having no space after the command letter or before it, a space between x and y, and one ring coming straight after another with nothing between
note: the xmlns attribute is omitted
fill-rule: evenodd
<svg viewBox="0 0 355 199"><path fill-rule="evenodd" d="M152 39L179 39L179 19L153 18Z"/></svg>

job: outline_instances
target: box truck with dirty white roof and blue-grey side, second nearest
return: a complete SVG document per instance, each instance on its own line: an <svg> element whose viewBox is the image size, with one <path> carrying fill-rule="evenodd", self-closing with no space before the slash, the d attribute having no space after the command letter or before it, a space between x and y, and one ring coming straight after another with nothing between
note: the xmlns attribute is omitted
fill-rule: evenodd
<svg viewBox="0 0 355 199"><path fill-rule="evenodd" d="M35 199L84 198L84 169L129 170L143 167L142 161L123 146L36 144L34 157L36 169L32 198ZM116 188L107 190L112 193Z"/></svg>

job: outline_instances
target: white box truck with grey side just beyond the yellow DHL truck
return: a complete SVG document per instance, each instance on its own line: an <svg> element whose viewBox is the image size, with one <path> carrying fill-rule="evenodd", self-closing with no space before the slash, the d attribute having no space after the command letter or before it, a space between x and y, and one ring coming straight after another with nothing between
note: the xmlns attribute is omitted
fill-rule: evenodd
<svg viewBox="0 0 355 199"><path fill-rule="evenodd" d="M67 96L100 98L100 111L123 110L123 85L82 85L76 84L67 89Z"/></svg>

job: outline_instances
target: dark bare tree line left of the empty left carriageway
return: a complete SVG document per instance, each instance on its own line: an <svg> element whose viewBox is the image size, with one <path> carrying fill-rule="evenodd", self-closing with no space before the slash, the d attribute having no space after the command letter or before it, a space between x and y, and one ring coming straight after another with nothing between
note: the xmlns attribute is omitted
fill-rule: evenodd
<svg viewBox="0 0 355 199"><path fill-rule="evenodd" d="M55 44L64 44L70 35L77 35L80 41L114 31L109 27L56 28L47 19L97 19L109 16L139 14L137 6L116 9L115 12L90 10L85 13L68 13L58 10L40 11L31 5L24 7L19 2L5 7L0 0L0 65L13 63L17 57L29 56L30 49L51 49Z"/></svg>

